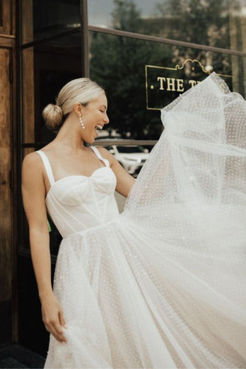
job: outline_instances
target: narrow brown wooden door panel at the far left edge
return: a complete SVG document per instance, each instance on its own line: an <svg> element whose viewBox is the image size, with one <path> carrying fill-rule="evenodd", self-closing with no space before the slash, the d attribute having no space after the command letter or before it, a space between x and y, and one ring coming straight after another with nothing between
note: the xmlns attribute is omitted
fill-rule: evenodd
<svg viewBox="0 0 246 369"><path fill-rule="evenodd" d="M11 340L12 193L11 193L11 50L0 47L0 342ZM1 321L2 320L2 321ZM6 336L7 335L7 336Z"/></svg>

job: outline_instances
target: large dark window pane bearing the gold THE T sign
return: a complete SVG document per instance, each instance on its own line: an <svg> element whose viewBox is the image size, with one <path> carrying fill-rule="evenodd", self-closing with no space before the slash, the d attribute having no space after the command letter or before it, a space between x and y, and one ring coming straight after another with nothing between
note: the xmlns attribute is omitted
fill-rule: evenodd
<svg viewBox="0 0 246 369"><path fill-rule="evenodd" d="M90 78L107 93L108 138L158 139L160 108L211 71L245 95L245 58L90 33Z"/></svg>

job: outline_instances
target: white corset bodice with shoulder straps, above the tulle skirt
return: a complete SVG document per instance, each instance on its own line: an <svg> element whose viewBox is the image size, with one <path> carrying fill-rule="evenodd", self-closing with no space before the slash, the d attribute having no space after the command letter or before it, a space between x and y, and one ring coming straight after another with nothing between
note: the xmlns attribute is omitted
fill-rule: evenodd
<svg viewBox="0 0 246 369"><path fill-rule="evenodd" d="M52 168L43 151L40 154L50 182L46 197L49 216L63 238L88 228L113 221L119 214L115 201L116 177L106 159L92 175L69 175L54 181Z"/></svg>

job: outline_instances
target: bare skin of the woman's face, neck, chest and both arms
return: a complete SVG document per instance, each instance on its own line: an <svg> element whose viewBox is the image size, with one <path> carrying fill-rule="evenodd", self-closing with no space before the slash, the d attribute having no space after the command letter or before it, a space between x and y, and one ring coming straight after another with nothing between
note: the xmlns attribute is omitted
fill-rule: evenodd
<svg viewBox="0 0 246 369"><path fill-rule="evenodd" d="M85 129L81 128L79 115L83 117ZM107 98L102 93L98 98L83 106L74 104L73 110L59 130L56 138L42 148L52 165L54 180L67 175L90 176L102 167L102 162L91 148L83 146L83 141L92 144L97 136L95 126L108 124ZM116 190L127 197L134 185L134 178L105 148L98 148L103 158L109 160L110 168L117 177ZM49 252L49 230L45 197L49 191L49 180L40 156L33 152L25 156L22 172L23 205L29 224L30 251L37 287L42 305L42 320L48 332L58 341L66 342L64 314L52 291L51 260Z"/></svg>

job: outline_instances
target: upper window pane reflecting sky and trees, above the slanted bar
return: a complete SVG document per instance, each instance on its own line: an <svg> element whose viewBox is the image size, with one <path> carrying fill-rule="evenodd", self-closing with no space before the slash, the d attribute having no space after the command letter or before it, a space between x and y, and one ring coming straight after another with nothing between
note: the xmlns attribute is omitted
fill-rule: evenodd
<svg viewBox="0 0 246 369"><path fill-rule="evenodd" d="M245 51L245 0L88 0L90 25Z"/></svg>

